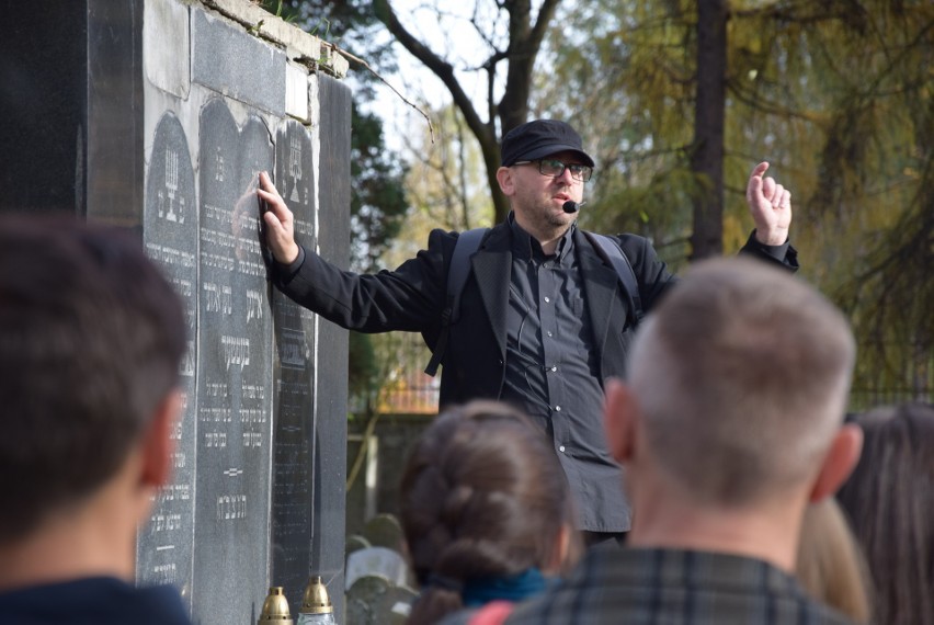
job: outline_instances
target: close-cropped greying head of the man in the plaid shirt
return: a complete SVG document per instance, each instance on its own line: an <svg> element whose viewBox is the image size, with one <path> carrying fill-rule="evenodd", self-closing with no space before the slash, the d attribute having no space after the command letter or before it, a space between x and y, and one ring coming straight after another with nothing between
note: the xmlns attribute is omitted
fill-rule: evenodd
<svg viewBox="0 0 934 625"><path fill-rule="evenodd" d="M853 443L836 439L854 359L846 319L800 280L741 258L698 263L640 328L625 387L611 385L611 447L697 509L804 505L855 462L825 474Z"/></svg>

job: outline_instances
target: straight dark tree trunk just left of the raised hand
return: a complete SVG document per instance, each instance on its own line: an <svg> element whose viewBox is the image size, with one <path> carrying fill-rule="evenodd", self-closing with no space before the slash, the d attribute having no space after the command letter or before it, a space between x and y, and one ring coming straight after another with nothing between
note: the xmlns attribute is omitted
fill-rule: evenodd
<svg viewBox="0 0 934 625"><path fill-rule="evenodd" d="M691 260L724 252L724 117L727 77L727 0L697 2L697 100L691 170L694 198Z"/></svg>

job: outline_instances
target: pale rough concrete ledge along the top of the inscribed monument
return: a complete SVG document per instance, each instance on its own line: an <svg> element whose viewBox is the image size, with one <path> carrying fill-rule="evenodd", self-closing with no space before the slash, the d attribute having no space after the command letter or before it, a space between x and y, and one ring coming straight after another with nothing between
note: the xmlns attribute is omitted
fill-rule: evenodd
<svg viewBox="0 0 934 625"><path fill-rule="evenodd" d="M201 0L202 3L241 24L247 32L285 49L292 60L337 78L346 76L349 64L337 46L260 9L250 0Z"/></svg>

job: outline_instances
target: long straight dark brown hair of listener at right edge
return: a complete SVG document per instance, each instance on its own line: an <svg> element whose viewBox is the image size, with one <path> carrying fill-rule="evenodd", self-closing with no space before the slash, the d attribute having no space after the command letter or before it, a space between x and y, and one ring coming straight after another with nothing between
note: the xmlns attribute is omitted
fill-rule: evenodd
<svg viewBox="0 0 934 625"><path fill-rule="evenodd" d="M863 455L838 493L876 588L875 623L934 625L934 407L853 417Z"/></svg>

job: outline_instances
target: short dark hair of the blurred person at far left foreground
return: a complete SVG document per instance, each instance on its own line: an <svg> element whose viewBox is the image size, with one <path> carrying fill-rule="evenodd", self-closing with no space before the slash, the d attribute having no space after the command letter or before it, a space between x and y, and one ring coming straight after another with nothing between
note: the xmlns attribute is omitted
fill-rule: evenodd
<svg viewBox="0 0 934 625"><path fill-rule="evenodd" d="M114 478L178 388L185 345L181 303L137 238L0 216L0 545Z"/></svg>

